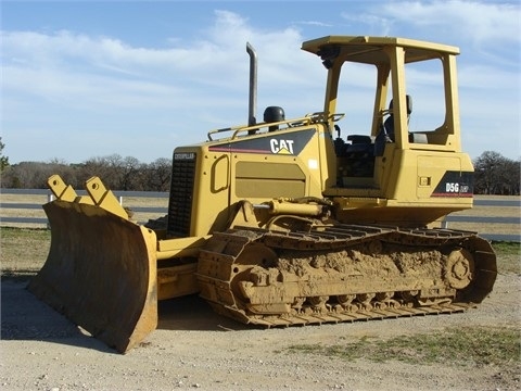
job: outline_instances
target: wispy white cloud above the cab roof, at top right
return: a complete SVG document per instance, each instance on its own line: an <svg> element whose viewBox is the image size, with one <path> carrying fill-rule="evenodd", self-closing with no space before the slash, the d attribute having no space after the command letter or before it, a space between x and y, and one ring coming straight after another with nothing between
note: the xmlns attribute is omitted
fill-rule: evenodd
<svg viewBox="0 0 521 391"><path fill-rule="evenodd" d="M519 52L521 42L521 7L514 2L385 1L368 4L363 12L343 12L342 16L350 24L365 26L364 35L471 42L485 52L507 45L517 45Z"/></svg>

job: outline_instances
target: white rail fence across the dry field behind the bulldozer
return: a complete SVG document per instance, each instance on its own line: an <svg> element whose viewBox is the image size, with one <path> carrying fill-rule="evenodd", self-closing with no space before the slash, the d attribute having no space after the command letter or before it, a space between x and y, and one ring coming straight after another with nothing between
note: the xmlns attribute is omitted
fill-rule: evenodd
<svg viewBox="0 0 521 391"><path fill-rule="evenodd" d="M45 202L51 200L49 190L45 189L2 189L2 201L0 202L0 225L11 225L11 226L39 226L46 227L48 220L45 217L41 205ZM85 191L78 191L79 195L86 194ZM147 220L147 216L152 217L155 214L155 217L165 215L167 213L168 193L167 192L152 192L152 191L114 191L114 194L118 197L122 204L125 203L125 206L128 206L137 215L137 220L142 223ZM5 202L5 198L10 197L10 200ZM39 198L35 202L35 197ZM25 202L13 202L18 198L25 198L28 201ZM150 205L141 206L140 202L136 200L139 199L154 199L160 200L160 203L164 205ZM134 200L134 201L132 201ZM128 202L127 202L128 201ZM134 203L132 203L134 202ZM493 216L483 216L475 215L475 211L479 212L480 207L492 207L493 210L501 211L503 213L494 214ZM27 216L30 213L30 210L37 212L36 214L42 215L42 217L37 216ZM474 211L475 210L475 211ZM448 215L444 220L444 227L460 228L460 226L473 225L478 226L480 229L470 229L478 230L481 236L488 240L495 241L514 241L521 242L521 200L519 198L514 199L487 199L487 198L475 198L474 199L474 215L465 214L465 212L459 212L456 214ZM5 213L10 211L11 213ZM500 214L507 215L500 215ZM513 212L513 213L512 213ZM461 214L463 213L463 214ZM141 217L141 218L140 218ZM492 227L497 226L508 226L508 232L504 232L501 229L492 229ZM491 227L491 229L490 229Z"/></svg>

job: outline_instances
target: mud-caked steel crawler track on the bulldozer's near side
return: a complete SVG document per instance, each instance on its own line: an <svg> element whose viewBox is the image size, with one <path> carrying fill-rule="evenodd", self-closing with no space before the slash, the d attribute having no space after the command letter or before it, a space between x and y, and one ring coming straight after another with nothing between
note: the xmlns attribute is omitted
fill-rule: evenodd
<svg viewBox="0 0 521 391"><path fill-rule="evenodd" d="M198 270L216 312L266 327L462 312L496 275L473 232L360 225L215 234Z"/></svg>

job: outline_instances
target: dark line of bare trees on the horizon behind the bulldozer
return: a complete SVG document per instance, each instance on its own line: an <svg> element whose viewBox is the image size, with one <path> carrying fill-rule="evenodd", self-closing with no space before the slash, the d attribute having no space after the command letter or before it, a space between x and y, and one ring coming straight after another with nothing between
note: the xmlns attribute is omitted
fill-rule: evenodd
<svg viewBox="0 0 521 391"><path fill-rule="evenodd" d="M161 157L147 164L132 156L113 154L79 164L54 160L10 165L1 155L2 148L0 138L2 188L47 189L47 179L53 174L59 174L75 189L84 189L85 181L92 176L99 176L112 190L168 191L170 188L170 159ZM498 152L485 151L473 164L475 194L520 194L521 160L513 161Z"/></svg>

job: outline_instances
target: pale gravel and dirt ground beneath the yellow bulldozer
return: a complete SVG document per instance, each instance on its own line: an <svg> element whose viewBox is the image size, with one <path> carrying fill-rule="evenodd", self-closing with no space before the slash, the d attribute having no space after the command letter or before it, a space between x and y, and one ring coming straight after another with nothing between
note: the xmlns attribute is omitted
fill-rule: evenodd
<svg viewBox="0 0 521 391"><path fill-rule="evenodd" d="M385 340L445 327L518 327L521 276L463 314L258 329L214 314L198 297L160 305L160 326L137 349L115 353L25 290L1 286L0 387L4 390L518 390L520 366L345 361L292 345ZM469 360L471 360L469 357Z"/></svg>

